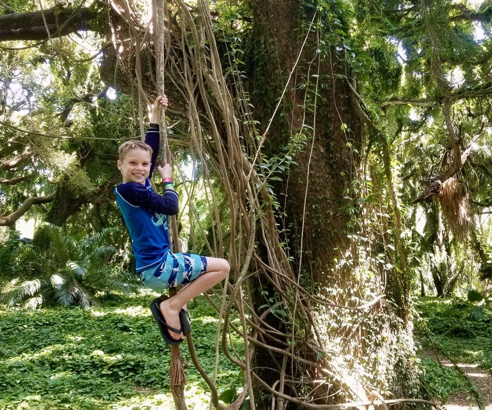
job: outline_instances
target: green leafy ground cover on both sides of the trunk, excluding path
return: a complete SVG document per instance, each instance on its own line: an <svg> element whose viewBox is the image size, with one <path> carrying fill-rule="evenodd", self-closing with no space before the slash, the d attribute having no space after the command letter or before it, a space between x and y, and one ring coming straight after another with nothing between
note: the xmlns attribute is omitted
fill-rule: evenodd
<svg viewBox="0 0 492 410"><path fill-rule="evenodd" d="M147 306L149 296L145 292L132 297L106 296L91 310L3 311L0 408L150 410L174 406L168 374L170 348L159 339ZM421 380L436 401L446 403L458 391L478 395L466 376L440 365L440 359L492 370L492 311L479 306L477 315L477 304L465 298L415 300ZM215 339L215 312L204 298L189 307L195 349L207 373L213 374L216 357L210 344ZM241 350L239 339L234 345ZM189 408L207 409L207 385L189 364L187 351L183 353L188 363L185 395ZM217 371L220 398L230 403L241 390L241 372L223 354L218 357ZM248 409L247 402L242 409Z"/></svg>

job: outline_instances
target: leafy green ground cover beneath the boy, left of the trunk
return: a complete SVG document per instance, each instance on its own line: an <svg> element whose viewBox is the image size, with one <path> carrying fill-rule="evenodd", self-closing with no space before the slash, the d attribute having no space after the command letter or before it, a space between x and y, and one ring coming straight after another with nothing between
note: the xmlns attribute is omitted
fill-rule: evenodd
<svg viewBox="0 0 492 410"><path fill-rule="evenodd" d="M0 409L173 408L170 348L148 309L152 297L124 298L90 310L0 311ZM211 375L216 313L200 298L189 308L195 348ZM235 342L241 351L241 341ZM184 345L184 360L191 362ZM224 356L218 369L220 390L232 381L242 385L239 369ZM206 384L194 367L185 372L188 404L208 408Z"/></svg>

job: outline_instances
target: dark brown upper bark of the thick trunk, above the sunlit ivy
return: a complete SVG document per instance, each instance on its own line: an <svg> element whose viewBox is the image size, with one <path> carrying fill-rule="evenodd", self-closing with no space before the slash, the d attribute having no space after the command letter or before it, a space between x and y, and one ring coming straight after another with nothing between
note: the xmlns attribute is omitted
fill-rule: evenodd
<svg viewBox="0 0 492 410"><path fill-rule="evenodd" d="M315 32L308 34L303 47L300 35L305 35L314 9L296 1L267 1L253 4L253 8L258 12L254 31L261 37L252 44L254 56L248 56L256 61L248 67L248 78L255 88L253 105L260 129L266 129L271 105L277 103L285 86L287 90L281 105L288 107L288 111L283 109L288 115L273 118L263 152L267 157L282 155L296 134L304 134L306 139L293 158L297 165L292 163L274 187L277 199L284 204L281 224L291 250L295 250L297 270L315 265L318 268L310 272L312 279L330 284L334 278L321 272L329 271L335 257L350 246L347 233L356 200L350 198L351 178L359 165L361 146L359 136L351 131L358 128L358 119L346 109L350 106L347 83L333 75L347 70L335 50L331 50L331 59L317 55ZM307 16L302 16L304 12ZM305 27L301 27L303 23ZM316 87L316 100L314 92L309 93L309 101L304 100L304 88L299 87L303 82Z"/></svg>

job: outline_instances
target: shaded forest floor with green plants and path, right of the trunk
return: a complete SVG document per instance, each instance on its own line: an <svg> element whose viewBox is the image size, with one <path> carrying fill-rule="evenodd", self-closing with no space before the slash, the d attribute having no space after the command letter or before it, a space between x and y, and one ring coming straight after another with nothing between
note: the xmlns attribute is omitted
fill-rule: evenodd
<svg viewBox="0 0 492 410"><path fill-rule="evenodd" d="M446 410L492 410L492 310L467 300L419 298L423 381Z"/></svg>

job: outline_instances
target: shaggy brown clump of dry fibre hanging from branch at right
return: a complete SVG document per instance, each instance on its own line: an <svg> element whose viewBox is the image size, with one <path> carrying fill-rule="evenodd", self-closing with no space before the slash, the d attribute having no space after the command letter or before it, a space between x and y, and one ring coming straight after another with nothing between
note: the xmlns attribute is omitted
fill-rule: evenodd
<svg viewBox="0 0 492 410"><path fill-rule="evenodd" d="M453 236L464 242L472 227L468 191L460 180L451 177L442 183L437 199Z"/></svg>

